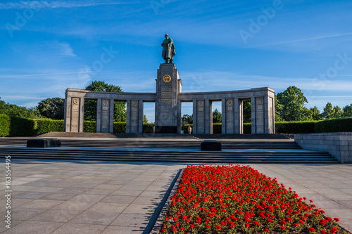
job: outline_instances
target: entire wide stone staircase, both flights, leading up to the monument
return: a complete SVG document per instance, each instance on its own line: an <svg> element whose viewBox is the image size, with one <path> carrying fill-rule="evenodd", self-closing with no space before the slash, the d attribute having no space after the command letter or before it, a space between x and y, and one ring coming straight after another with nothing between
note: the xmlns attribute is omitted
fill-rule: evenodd
<svg viewBox="0 0 352 234"><path fill-rule="evenodd" d="M220 137L217 141L222 143L221 152L200 151L203 138L210 138L208 136L139 136L113 139L58 137L61 148L25 148L28 138L0 138L0 155L11 155L12 159L117 162L338 163L327 152L302 150L294 141L282 136L277 136L276 139L274 136L268 139L257 137L246 136L248 141L244 136Z"/></svg>

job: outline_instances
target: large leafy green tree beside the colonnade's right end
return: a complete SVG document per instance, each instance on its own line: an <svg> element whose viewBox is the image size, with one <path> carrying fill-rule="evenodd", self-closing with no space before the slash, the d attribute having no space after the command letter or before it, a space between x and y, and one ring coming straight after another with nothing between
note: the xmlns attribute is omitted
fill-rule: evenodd
<svg viewBox="0 0 352 234"><path fill-rule="evenodd" d="M301 89L296 86L289 86L282 93L277 93L277 104L282 108L277 108L277 114L283 121L298 121L309 119L309 110L304 107L308 103Z"/></svg>

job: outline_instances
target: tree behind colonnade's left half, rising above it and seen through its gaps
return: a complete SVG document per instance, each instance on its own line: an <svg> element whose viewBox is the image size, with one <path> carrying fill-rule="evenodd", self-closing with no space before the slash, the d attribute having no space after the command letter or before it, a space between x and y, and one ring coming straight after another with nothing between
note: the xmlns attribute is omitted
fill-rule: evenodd
<svg viewBox="0 0 352 234"><path fill-rule="evenodd" d="M106 84L104 81L94 81L89 84L85 90L89 91L105 91L105 92L123 92L120 86L113 84ZM86 100L84 102L84 119L96 120L96 100ZM126 103L115 102L113 112L114 122L125 122L126 121Z"/></svg>

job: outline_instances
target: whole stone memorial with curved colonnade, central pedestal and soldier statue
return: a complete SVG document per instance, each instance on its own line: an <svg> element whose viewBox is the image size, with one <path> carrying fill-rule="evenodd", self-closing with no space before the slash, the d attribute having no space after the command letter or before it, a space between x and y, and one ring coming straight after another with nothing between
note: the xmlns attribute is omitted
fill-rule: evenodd
<svg viewBox="0 0 352 234"><path fill-rule="evenodd" d="M113 103L127 103L126 133L143 133L144 102L156 103L155 133L180 134L183 102L193 103L193 134L213 134L213 101L222 102L222 134L243 134L243 101L251 100L252 134L275 134L275 91L269 87L182 93L182 81L173 63L175 45L168 34L161 44L156 93L113 93L67 89L64 131L82 132L84 100L97 100L96 132L113 133Z"/></svg>

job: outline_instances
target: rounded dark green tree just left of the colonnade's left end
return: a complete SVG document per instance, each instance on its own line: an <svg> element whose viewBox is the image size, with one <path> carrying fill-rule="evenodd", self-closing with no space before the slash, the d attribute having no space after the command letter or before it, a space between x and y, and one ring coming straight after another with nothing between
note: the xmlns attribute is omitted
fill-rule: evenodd
<svg viewBox="0 0 352 234"><path fill-rule="evenodd" d="M64 98L46 98L38 103L40 115L50 119L63 119L65 109Z"/></svg>

